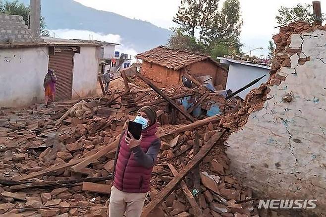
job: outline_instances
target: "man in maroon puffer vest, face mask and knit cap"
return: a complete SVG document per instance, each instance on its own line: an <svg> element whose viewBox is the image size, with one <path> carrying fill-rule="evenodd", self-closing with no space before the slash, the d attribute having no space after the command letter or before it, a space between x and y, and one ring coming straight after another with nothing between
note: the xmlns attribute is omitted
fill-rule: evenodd
<svg viewBox="0 0 326 217"><path fill-rule="evenodd" d="M109 202L109 217L140 217L150 190L154 163L161 140L155 135L156 111L149 107L138 110L135 122L143 125L139 140L122 134L114 159L114 180Z"/></svg>

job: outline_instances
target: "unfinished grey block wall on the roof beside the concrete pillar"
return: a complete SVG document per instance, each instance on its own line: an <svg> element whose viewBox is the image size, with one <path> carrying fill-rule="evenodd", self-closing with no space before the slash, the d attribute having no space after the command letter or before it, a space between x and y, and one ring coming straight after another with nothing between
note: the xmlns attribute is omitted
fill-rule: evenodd
<svg viewBox="0 0 326 217"><path fill-rule="evenodd" d="M35 43L42 42L33 38L22 16L0 13L0 43Z"/></svg>

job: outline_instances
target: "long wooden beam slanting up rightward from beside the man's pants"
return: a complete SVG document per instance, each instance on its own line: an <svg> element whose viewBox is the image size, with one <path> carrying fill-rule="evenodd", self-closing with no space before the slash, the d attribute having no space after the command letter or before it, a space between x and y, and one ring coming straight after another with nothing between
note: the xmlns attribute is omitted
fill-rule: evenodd
<svg viewBox="0 0 326 217"><path fill-rule="evenodd" d="M193 169L202 159L212 150L217 141L223 136L225 130L222 132L217 132L211 139L207 142L205 146L198 152L198 154L188 162L188 164L175 176L156 196L156 198L151 201L144 209L141 217L149 217L150 213L162 203L162 201L173 191L175 186L186 176L186 174Z"/></svg>

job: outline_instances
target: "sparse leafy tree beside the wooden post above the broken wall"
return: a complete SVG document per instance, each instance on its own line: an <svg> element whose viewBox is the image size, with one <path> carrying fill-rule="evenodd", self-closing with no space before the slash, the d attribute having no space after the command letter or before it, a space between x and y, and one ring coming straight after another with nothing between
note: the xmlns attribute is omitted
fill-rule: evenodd
<svg viewBox="0 0 326 217"><path fill-rule="evenodd" d="M322 19L325 19L323 15ZM285 25L295 21L305 21L310 24L314 24L315 15L312 4L297 4L295 7L283 7L278 9L278 15L276 21L279 25Z"/></svg>

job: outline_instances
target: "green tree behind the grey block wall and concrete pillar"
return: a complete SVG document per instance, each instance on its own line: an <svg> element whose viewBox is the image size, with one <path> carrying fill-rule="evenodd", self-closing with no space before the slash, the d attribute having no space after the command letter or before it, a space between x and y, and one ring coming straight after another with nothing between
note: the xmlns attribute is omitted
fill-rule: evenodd
<svg viewBox="0 0 326 217"><path fill-rule="evenodd" d="M5 14L12 14L12 15L20 15L23 17L23 20L26 23L29 22L30 16L30 8L29 6L25 6L23 3L18 3L18 0L13 2L5 1L4 3L0 0L0 12ZM40 20L40 33L41 35L49 36L49 30L47 29L47 25L45 23L45 18L41 16Z"/></svg>

